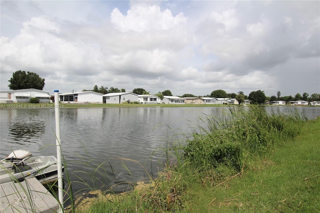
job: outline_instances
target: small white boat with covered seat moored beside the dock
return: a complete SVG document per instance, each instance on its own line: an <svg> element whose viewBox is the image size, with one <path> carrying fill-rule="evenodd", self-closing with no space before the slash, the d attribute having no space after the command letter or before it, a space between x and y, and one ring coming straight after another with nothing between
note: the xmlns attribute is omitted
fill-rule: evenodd
<svg viewBox="0 0 320 213"><path fill-rule="evenodd" d="M0 184L22 181L28 177L36 177L42 184L55 181L57 179L56 157L32 156L27 150L17 149L0 161Z"/></svg>

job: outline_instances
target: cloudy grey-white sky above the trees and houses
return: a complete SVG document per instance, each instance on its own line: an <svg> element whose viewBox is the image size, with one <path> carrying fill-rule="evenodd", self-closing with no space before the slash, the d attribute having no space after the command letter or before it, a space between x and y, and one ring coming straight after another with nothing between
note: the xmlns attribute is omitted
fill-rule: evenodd
<svg viewBox="0 0 320 213"><path fill-rule="evenodd" d="M320 1L0 0L0 89L320 93Z"/></svg>

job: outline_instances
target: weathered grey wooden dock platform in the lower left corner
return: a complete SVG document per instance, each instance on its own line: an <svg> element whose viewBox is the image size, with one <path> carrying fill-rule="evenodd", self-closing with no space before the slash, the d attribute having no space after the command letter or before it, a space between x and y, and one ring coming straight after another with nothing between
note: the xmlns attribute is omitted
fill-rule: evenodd
<svg viewBox="0 0 320 213"><path fill-rule="evenodd" d="M57 212L58 201L35 178L0 185L0 212Z"/></svg>

